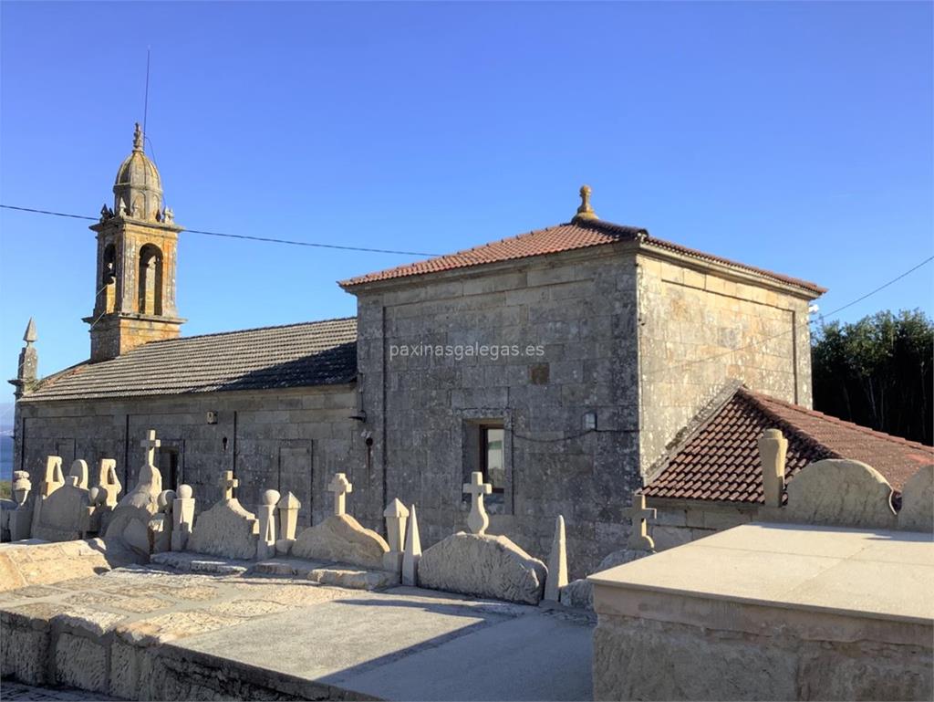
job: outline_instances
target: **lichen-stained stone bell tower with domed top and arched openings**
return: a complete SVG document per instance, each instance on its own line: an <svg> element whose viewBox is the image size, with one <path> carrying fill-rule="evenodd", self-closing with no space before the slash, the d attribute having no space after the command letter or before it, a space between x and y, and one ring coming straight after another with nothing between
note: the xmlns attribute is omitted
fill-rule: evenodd
<svg viewBox="0 0 934 702"><path fill-rule="evenodd" d="M176 338L176 252L182 227L163 207L163 185L136 124L133 152L114 182L114 207L101 208L91 324L91 360L106 361L149 341Z"/></svg>

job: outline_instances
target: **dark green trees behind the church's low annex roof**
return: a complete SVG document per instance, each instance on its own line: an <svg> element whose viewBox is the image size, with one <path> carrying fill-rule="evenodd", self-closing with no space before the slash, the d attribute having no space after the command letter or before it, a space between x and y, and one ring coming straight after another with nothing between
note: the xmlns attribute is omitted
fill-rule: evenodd
<svg viewBox="0 0 934 702"><path fill-rule="evenodd" d="M921 310L821 324L812 337L814 409L934 443L934 324Z"/></svg>

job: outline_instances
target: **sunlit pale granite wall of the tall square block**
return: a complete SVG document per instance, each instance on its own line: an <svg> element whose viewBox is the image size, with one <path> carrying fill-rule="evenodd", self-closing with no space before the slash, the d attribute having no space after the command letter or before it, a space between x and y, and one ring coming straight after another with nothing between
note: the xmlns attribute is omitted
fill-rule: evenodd
<svg viewBox="0 0 934 702"><path fill-rule="evenodd" d="M728 380L811 407L807 294L696 263L638 263L644 473Z"/></svg>

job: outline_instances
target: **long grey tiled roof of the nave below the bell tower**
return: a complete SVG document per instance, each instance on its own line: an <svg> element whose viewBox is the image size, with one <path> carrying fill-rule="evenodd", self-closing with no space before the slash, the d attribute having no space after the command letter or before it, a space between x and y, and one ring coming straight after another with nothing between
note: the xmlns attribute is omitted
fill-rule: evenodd
<svg viewBox="0 0 934 702"><path fill-rule="evenodd" d="M152 341L110 361L42 380L24 401L269 390L349 382L357 319Z"/></svg>

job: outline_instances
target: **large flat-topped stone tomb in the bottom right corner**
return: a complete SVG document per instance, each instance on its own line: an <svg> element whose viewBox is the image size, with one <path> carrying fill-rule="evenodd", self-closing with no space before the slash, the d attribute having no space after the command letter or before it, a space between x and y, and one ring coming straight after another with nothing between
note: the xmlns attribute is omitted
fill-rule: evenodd
<svg viewBox="0 0 934 702"><path fill-rule="evenodd" d="M930 535L746 524L590 576L598 700L930 700Z"/></svg>

